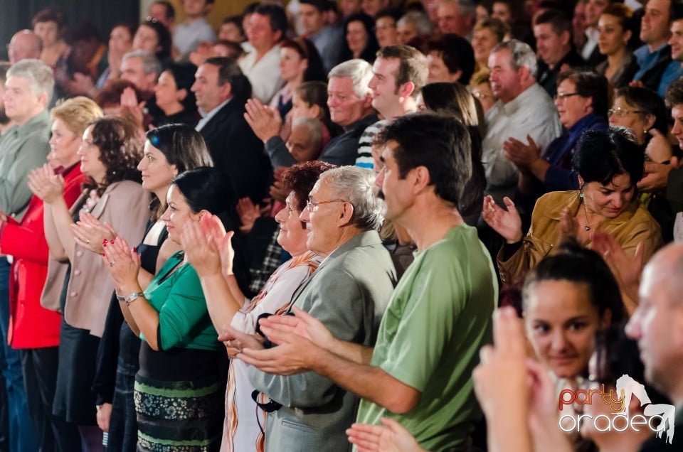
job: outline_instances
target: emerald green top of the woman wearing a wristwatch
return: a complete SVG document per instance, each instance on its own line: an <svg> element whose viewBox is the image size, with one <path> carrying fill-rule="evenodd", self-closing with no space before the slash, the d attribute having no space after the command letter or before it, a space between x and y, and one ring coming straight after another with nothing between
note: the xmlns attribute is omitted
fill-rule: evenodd
<svg viewBox="0 0 683 452"><path fill-rule="evenodd" d="M171 256L144 291L144 297L159 313L159 349L218 350L222 344L208 316L199 276L182 260L181 252ZM176 266L178 269L169 276Z"/></svg>

